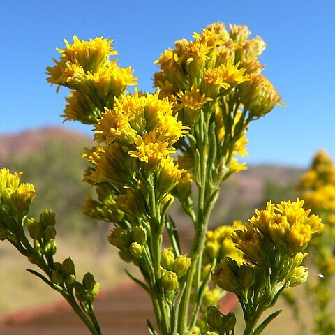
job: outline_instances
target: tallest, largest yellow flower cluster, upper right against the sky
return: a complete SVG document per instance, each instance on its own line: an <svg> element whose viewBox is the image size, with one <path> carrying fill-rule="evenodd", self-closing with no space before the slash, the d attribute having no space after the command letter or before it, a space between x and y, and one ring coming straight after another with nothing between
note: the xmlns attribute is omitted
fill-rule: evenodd
<svg viewBox="0 0 335 335"><path fill-rule="evenodd" d="M156 64L154 76L163 96L175 102L184 124L192 125L200 109L234 91L253 117L269 112L281 100L273 85L261 74L258 57L265 43L246 26L211 24L195 40L178 40L174 50L165 50Z"/></svg>

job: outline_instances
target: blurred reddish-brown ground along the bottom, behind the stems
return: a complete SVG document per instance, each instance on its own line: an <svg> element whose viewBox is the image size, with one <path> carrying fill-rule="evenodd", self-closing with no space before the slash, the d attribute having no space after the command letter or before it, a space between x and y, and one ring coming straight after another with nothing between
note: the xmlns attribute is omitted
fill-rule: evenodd
<svg viewBox="0 0 335 335"><path fill-rule="evenodd" d="M225 309L231 310L236 300L232 295L226 298ZM147 335L147 318L154 320L151 301L137 285L101 294L95 310L104 335ZM4 321L1 335L89 335L66 303L8 315Z"/></svg>

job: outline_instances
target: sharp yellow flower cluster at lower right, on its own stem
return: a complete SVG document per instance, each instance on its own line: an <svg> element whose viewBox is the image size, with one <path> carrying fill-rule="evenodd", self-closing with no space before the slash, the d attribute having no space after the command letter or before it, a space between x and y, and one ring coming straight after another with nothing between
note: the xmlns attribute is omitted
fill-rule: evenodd
<svg viewBox="0 0 335 335"><path fill-rule="evenodd" d="M263 210L256 210L256 216L249 219L243 230L236 230L232 240L251 261L262 262L271 246L281 248L290 255L304 251L312 237L323 230L318 216L309 215L303 209L303 200L297 202L267 203Z"/></svg>

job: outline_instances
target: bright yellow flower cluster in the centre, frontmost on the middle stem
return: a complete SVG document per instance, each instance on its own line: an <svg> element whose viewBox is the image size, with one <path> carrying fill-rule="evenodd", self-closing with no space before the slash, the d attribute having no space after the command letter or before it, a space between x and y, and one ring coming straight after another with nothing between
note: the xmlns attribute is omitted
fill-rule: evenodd
<svg viewBox="0 0 335 335"><path fill-rule="evenodd" d="M131 157L138 158L149 170L155 170L176 151L172 145L188 130L177 121L178 115L172 114L168 98L160 99L158 95L159 91L140 96L136 90L133 96L116 99L114 107L106 108L96 124L96 140L107 145L117 142L128 146Z"/></svg>

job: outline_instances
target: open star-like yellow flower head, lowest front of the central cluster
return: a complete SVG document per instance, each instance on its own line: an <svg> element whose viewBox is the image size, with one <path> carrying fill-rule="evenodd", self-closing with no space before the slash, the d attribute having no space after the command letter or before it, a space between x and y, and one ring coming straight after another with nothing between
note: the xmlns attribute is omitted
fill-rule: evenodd
<svg viewBox="0 0 335 335"><path fill-rule="evenodd" d="M156 131L138 135L135 145L137 150L131 150L128 154L146 163L149 170L155 170L163 158L176 152L175 148L169 147L168 142L162 142L159 137L156 137Z"/></svg>

